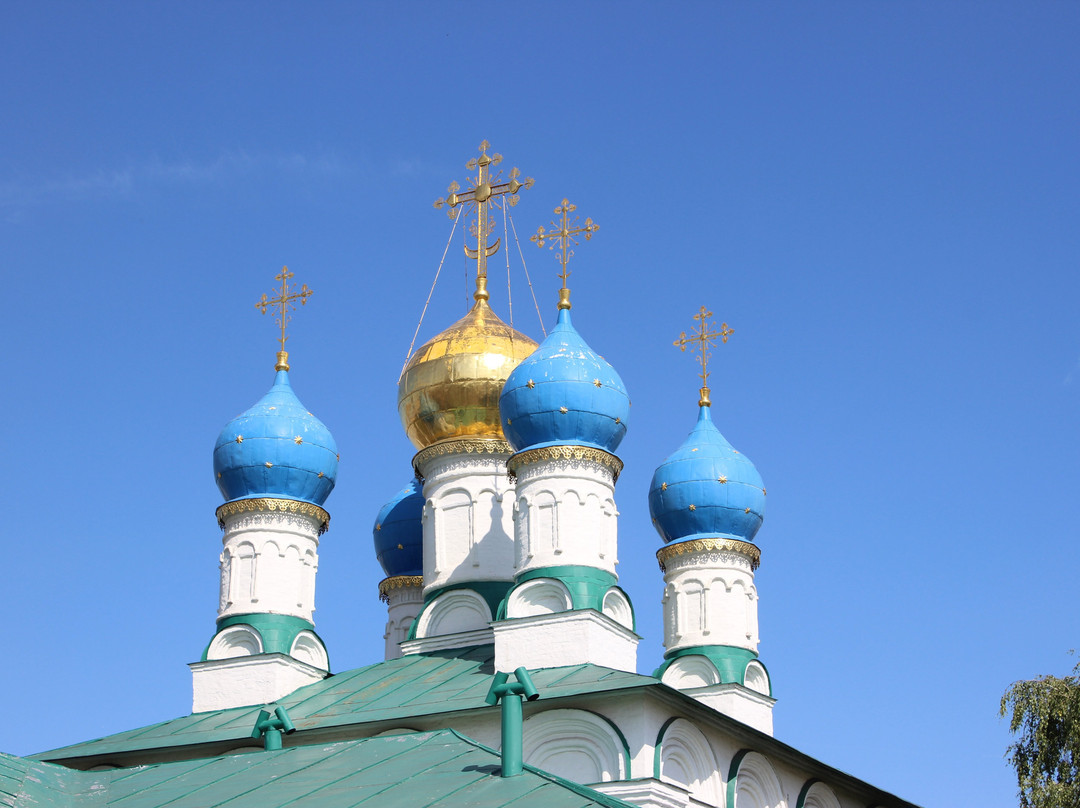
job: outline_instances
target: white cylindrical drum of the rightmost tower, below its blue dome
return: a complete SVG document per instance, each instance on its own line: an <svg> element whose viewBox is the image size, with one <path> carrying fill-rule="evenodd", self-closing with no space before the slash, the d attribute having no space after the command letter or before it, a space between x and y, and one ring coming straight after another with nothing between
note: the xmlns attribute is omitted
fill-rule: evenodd
<svg viewBox="0 0 1080 808"><path fill-rule="evenodd" d="M748 555L737 550L691 550L666 557L664 567L669 651L698 645L757 651L757 589Z"/></svg>

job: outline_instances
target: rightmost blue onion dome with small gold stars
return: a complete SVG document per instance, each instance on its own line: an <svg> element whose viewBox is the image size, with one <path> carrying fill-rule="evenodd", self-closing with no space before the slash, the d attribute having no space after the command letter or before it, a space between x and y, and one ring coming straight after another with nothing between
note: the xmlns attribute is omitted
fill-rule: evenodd
<svg viewBox="0 0 1080 808"><path fill-rule="evenodd" d="M652 475L649 515L665 542L753 541L765 517L765 486L750 458L713 423L708 404L683 445Z"/></svg>

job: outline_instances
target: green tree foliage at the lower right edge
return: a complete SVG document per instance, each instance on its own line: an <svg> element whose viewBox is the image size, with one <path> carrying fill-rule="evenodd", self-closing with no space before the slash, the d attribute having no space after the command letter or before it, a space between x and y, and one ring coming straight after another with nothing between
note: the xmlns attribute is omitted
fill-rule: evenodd
<svg viewBox="0 0 1080 808"><path fill-rule="evenodd" d="M1013 683L1001 715L1018 733L1005 759L1016 769L1021 808L1080 808L1080 663L1071 676Z"/></svg>

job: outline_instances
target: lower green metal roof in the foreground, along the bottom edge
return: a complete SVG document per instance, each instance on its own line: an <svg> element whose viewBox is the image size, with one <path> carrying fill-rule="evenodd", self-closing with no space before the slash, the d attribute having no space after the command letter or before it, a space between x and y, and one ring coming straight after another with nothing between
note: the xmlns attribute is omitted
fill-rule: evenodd
<svg viewBox="0 0 1080 808"><path fill-rule="evenodd" d="M453 730L75 771L0 755L4 808L631 808L526 766L499 777L499 755Z"/></svg>

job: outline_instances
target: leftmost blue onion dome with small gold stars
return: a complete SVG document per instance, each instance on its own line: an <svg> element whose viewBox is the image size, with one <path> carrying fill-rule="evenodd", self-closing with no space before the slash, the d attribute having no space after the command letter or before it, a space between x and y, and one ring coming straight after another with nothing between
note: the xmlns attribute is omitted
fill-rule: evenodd
<svg viewBox="0 0 1080 808"><path fill-rule="evenodd" d="M337 464L334 436L280 368L270 391L225 425L214 446L214 476L227 502L281 497L322 506L334 490Z"/></svg>

